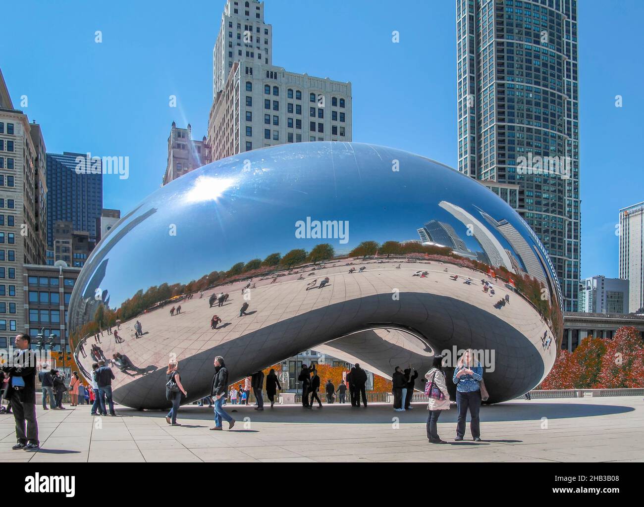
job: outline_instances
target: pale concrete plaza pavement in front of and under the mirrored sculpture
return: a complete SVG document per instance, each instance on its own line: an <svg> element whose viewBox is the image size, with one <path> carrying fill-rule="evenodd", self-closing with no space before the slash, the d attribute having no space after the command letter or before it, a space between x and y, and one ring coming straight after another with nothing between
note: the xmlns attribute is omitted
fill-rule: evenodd
<svg viewBox="0 0 644 507"><path fill-rule="evenodd" d="M483 441L455 442L456 407L441 414L439 434L425 435L426 403L393 412L374 403L305 410L298 405L226 405L237 423L210 431L212 409L184 406L180 427L165 412L117 407L120 417L90 416L90 407L37 407L41 450L12 450L14 417L0 415L0 460L39 462L133 461L644 461L644 399L638 396L512 400L484 406ZM247 418L247 419L245 419ZM398 418L398 419L396 419ZM227 423L224 423L227 428Z"/></svg>

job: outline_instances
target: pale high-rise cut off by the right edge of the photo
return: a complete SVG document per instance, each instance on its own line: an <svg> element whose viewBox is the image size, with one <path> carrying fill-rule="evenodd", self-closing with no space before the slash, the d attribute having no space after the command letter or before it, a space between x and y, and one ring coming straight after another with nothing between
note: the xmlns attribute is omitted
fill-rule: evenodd
<svg viewBox="0 0 644 507"><path fill-rule="evenodd" d="M644 308L644 202L620 210L620 278L629 281L629 313Z"/></svg>

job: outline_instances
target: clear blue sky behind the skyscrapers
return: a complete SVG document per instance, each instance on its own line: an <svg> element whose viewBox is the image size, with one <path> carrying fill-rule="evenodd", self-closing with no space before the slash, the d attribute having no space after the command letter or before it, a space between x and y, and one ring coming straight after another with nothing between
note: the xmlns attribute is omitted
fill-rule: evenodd
<svg viewBox="0 0 644 507"><path fill-rule="evenodd" d="M50 152L129 156L104 176L104 207L123 213L155 190L173 120L206 133L213 45L224 2L6 2L0 68ZM641 0L580 0L582 276L618 275L614 226L644 201ZM398 8L398 7L409 8ZM351 81L353 138L455 167L455 2L267 0L273 64ZM303 21L310 20L310 21ZM102 43L94 41L102 31ZM392 31L400 32L399 44ZM321 48L321 49L314 49ZM168 106L176 95L176 108ZM623 96L623 107L614 106Z"/></svg>

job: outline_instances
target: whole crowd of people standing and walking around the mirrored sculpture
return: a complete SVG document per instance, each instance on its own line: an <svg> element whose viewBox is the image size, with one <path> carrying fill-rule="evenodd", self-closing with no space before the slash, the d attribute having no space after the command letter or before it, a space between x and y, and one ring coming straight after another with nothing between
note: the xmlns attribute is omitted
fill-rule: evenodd
<svg viewBox="0 0 644 507"><path fill-rule="evenodd" d="M18 353L15 355L12 364L3 365L2 367L2 377L4 378L2 398L8 402L6 412L13 412L15 418L17 443L13 447L14 450L35 450L40 447L35 410L36 356L30 346L30 335L27 333L17 335L15 337L15 347ZM430 443L446 443L446 441L440 439L437 432L440 412L450 409L451 403L442 362L442 356L435 356L430 371L425 374L424 392L429 398L426 432ZM128 360L126 356L120 356L115 358L112 363L117 366L120 364L120 367L123 367L125 363L128 363ZM110 366L103 359L93 363L91 366L91 391L88 396L92 401L91 415L106 416L109 413L110 416L117 416L111 389L111 382L115 379L115 376ZM79 389L82 386L82 381L77 372L71 374L69 385L66 385L64 376L59 371L50 369L48 365L42 365L38 376L43 389L44 410L48 410L47 401L49 401L51 409L64 409L62 407L62 393L65 391L70 391L71 406L77 406L79 403ZM395 368L393 373L393 410L413 409L411 401L417 378L418 372L413 369L412 365L404 370L401 367ZM318 407L322 408L322 401L318 396L321 380L315 365L303 364L298 380L302 384L302 406L306 409L311 409L314 403L317 403ZM346 374L346 382L340 382L337 389L334 383L328 379L324 384L327 403L334 403L336 396L339 399L339 403L346 403L346 391L348 390L352 407L360 407L360 401L362 400L366 408L366 380L366 371L359 364L355 364L351 368ZM483 383L482 366L477 362L472 351L466 351L460 358L457 367L454 369L452 382L456 385L458 411L455 441L464 439L468 412L470 414L471 435L475 441L480 441L479 410L481 402L487 399L487 392ZM235 419L223 408L227 398L233 405L238 403L247 405L249 403L249 394L252 390L256 399L255 410L264 410L264 389L272 408L277 392L282 389L274 369L270 369L266 377L263 371L257 371L247 376L243 384L240 383L236 387L234 385L231 387L228 369L223 357L216 356L214 358L214 376L211 382L210 394L200 401L200 405L204 405L204 402L207 401L210 407L214 407L214 427L211 430L222 430L223 421L227 421L228 429L234 427ZM171 360L166 371L166 398L171 403L171 409L166 415L166 421L169 425L180 426L176 418L182 396L187 395L188 392L181 382L178 362Z"/></svg>

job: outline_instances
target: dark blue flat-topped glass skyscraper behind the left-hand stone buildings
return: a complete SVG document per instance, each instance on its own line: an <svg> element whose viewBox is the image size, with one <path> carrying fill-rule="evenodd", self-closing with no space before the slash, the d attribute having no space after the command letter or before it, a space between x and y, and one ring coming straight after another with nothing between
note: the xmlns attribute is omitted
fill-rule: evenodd
<svg viewBox="0 0 644 507"><path fill-rule="evenodd" d="M81 168L91 168L90 171ZM102 159L88 154L47 154L47 246L53 250L53 225L73 223L96 243L96 221L103 209Z"/></svg>

